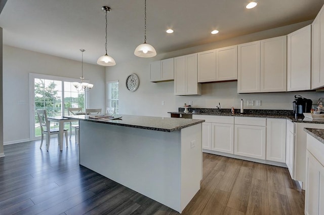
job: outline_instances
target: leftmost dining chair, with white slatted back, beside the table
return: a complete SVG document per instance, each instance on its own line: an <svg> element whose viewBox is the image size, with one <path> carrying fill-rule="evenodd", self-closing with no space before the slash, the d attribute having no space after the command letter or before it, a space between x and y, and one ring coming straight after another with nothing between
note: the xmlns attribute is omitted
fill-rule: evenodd
<svg viewBox="0 0 324 215"><path fill-rule="evenodd" d="M36 111L37 111L39 125L41 125L41 131L42 131L42 141L41 141L41 146L39 148L40 149L42 148L44 135L46 135L46 150L48 151L50 148L51 135L55 135L55 134L58 135L59 128L51 129L50 121L47 119L46 110L36 110ZM64 135L65 135L65 142L66 142L66 147L67 147L68 146L68 144L67 144L67 128L64 128Z"/></svg>

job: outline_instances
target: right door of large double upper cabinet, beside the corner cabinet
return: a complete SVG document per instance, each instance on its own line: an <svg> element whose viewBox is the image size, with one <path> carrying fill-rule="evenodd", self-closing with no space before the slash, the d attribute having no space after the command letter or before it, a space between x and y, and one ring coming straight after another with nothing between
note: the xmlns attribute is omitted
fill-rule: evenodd
<svg viewBox="0 0 324 215"><path fill-rule="evenodd" d="M261 40L260 92L287 91L287 36Z"/></svg>

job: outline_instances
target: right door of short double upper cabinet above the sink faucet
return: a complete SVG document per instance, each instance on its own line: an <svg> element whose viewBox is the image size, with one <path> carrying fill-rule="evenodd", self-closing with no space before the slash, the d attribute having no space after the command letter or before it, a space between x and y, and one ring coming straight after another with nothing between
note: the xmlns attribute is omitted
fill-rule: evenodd
<svg viewBox="0 0 324 215"><path fill-rule="evenodd" d="M237 46L216 49L216 81L237 80Z"/></svg>

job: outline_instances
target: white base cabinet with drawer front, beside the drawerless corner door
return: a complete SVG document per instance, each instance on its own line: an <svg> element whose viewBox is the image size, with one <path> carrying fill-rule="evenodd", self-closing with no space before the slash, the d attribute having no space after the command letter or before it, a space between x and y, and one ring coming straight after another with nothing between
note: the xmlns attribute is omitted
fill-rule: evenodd
<svg viewBox="0 0 324 215"><path fill-rule="evenodd" d="M266 119L234 118L234 154L265 160Z"/></svg>

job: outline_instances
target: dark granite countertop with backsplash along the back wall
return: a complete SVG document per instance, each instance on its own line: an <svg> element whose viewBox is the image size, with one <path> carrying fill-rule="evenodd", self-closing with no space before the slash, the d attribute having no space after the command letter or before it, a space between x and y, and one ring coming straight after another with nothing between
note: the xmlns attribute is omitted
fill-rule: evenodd
<svg viewBox="0 0 324 215"><path fill-rule="evenodd" d="M239 109L234 110L234 114L230 109L222 109L217 112L215 108L189 108L189 112L185 113L184 108L178 111L168 112L172 114L199 114L199 115L218 115L218 116L246 116L246 117L266 117L266 118L284 118L292 122L318 123L324 124L324 119L310 119L306 117L295 118L292 110L267 110L267 109L245 109L244 114L239 113Z"/></svg>

